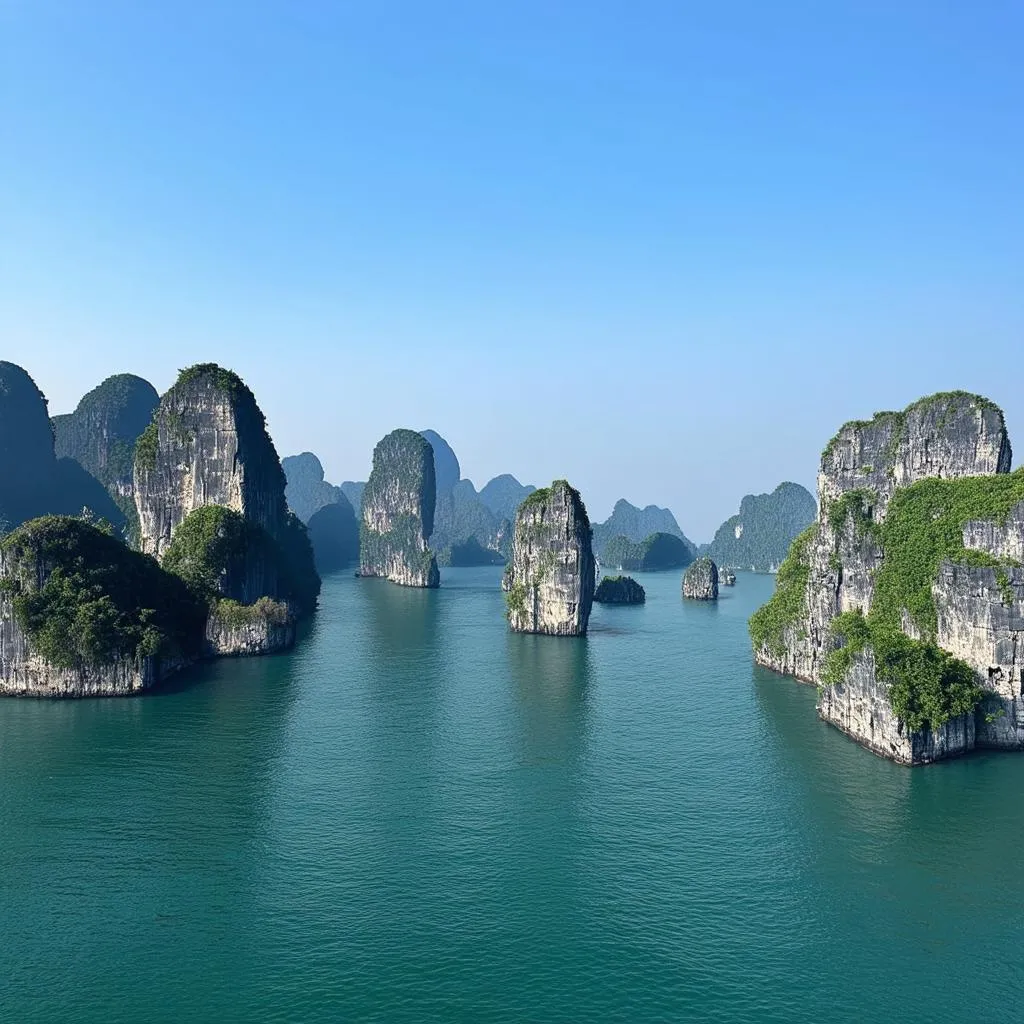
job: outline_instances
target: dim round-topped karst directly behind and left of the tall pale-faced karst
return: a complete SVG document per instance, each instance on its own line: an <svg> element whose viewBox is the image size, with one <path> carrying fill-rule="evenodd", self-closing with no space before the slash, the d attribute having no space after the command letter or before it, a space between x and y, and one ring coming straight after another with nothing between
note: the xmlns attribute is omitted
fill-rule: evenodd
<svg viewBox="0 0 1024 1024"><path fill-rule="evenodd" d="M135 518L135 443L159 401L148 381L118 374L86 394L74 413L52 420L57 457L74 459L99 480L130 521Z"/></svg>

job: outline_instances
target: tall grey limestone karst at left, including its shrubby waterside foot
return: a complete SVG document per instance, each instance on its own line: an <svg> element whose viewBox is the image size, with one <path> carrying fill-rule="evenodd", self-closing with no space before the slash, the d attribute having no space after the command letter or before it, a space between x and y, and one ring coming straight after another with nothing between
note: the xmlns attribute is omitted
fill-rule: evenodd
<svg viewBox="0 0 1024 1024"><path fill-rule="evenodd" d="M290 642L279 628L285 611L294 618L316 606L312 548L285 482L252 392L214 364L179 374L136 444L139 546L176 571L205 565L217 577L208 639L222 653L275 649ZM248 635L217 626L228 611L237 626L248 614Z"/></svg>

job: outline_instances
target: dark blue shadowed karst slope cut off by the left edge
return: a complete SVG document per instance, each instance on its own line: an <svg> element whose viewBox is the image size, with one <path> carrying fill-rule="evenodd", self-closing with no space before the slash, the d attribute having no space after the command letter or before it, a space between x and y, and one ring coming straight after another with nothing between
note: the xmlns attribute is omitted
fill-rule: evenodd
<svg viewBox="0 0 1024 1024"><path fill-rule="evenodd" d="M57 459L46 398L32 378L0 361L0 532L36 516L88 508L116 528L124 515L103 486L70 459Z"/></svg>

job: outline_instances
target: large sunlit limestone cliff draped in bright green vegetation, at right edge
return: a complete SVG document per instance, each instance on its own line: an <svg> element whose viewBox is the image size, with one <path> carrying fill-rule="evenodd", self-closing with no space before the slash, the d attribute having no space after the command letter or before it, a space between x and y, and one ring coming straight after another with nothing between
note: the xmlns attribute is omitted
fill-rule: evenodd
<svg viewBox="0 0 1024 1024"><path fill-rule="evenodd" d="M759 664L817 683L822 718L897 761L1024 745L1010 462L1002 414L963 392L846 424L818 519L751 621Z"/></svg>

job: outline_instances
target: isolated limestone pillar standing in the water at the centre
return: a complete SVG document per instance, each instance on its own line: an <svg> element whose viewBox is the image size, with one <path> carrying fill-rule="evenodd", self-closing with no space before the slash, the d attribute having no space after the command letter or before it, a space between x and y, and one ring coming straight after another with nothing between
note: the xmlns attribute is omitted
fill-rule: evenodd
<svg viewBox="0 0 1024 1024"><path fill-rule="evenodd" d="M564 480L536 490L516 513L505 570L509 626L517 633L584 636L596 563L590 519Z"/></svg>

